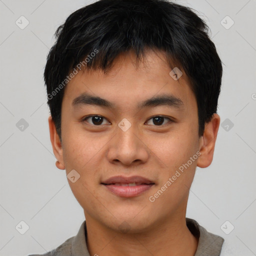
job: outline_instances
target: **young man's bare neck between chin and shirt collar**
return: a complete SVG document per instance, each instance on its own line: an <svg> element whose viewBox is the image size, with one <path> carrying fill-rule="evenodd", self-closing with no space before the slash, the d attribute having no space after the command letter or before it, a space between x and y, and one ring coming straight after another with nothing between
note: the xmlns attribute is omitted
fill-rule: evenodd
<svg viewBox="0 0 256 256"><path fill-rule="evenodd" d="M86 215L86 228L90 255L193 256L198 244L186 226L185 216L164 219L139 233L124 233Z"/></svg>

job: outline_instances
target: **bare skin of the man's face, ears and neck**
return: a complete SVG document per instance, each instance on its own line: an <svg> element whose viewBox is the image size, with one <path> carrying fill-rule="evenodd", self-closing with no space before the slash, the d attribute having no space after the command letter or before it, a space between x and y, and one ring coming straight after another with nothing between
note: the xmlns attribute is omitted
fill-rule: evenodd
<svg viewBox="0 0 256 256"><path fill-rule="evenodd" d="M220 119L214 114L199 137L197 104L189 80L184 72L174 80L170 70L160 51L148 50L146 61L137 69L132 51L120 54L108 73L80 71L66 85L61 142L53 120L48 119L56 166L66 169L66 174L72 169L80 174L76 182L68 182L84 210L90 255L192 256L196 251L198 240L185 223L188 193L196 166L207 167L212 161ZM73 99L84 92L115 107L73 107ZM139 102L164 93L181 99L182 107L136 108ZM82 120L91 114L103 116L103 122ZM156 125L152 117L159 115L167 118ZM126 131L118 127L123 118L131 124ZM200 156L150 202L149 196L196 152ZM141 175L155 184L137 196L119 197L100 184L115 175Z"/></svg>

